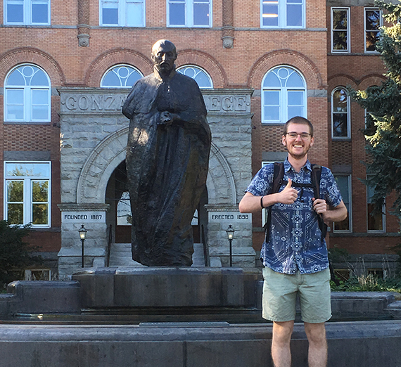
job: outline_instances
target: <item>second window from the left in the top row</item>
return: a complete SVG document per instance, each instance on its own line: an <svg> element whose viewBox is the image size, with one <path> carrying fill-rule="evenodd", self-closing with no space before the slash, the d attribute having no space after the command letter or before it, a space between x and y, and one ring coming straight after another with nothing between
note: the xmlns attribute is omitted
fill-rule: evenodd
<svg viewBox="0 0 401 367"><path fill-rule="evenodd" d="M145 0L101 0L101 25L145 26Z"/></svg>

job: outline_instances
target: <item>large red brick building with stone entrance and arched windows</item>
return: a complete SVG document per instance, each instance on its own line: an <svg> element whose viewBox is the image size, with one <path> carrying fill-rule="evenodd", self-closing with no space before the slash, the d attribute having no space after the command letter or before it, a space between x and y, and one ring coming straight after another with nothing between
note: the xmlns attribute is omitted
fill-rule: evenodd
<svg viewBox="0 0 401 367"><path fill-rule="evenodd" d="M393 259L398 224L388 208L369 215L360 181L365 112L346 90L383 79L371 2L4 0L0 13L0 215L32 222L30 242L42 247L46 269L65 278L79 268L82 224L87 266L108 262L109 239L129 241L129 122L120 108L132 83L152 72L151 46L163 38L208 108L208 187L193 224L214 264L228 264L229 224L234 265L258 263L262 217L238 215L238 201L265 162L286 157L281 129L293 115L314 124L310 160L333 170L349 207L329 245L365 255L371 269Z"/></svg>

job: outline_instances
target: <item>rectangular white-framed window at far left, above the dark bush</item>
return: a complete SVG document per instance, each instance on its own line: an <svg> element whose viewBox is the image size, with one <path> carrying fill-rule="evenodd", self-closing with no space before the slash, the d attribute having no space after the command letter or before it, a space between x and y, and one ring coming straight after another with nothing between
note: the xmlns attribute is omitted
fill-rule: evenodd
<svg viewBox="0 0 401 367"><path fill-rule="evenodd" d="M5 162L5 210L9 224L50 226L50 162Z"/></svg>

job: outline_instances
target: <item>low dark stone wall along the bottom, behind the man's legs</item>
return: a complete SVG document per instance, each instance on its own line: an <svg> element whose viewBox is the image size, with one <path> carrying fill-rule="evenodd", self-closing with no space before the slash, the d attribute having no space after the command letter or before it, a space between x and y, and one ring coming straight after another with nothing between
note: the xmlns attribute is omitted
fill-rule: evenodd
<svg viewBox="0 0 401 367"><path fill-rule="evenodd" d="M399 367L401 321L327 323L328 367ZM0 324L2 367L272 367L271 324ZM295 324L293 366L307 367Z"/></svg>

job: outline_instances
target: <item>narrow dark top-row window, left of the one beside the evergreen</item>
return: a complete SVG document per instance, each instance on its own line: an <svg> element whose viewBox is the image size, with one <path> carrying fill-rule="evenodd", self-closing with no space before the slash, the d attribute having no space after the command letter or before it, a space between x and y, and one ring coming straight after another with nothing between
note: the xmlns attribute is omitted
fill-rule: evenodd
<svg viewBox="0 0 401 367"><path fill-rule="evenodd" d="M349 8L331 8L331 51L350 52Z"/></svg>

